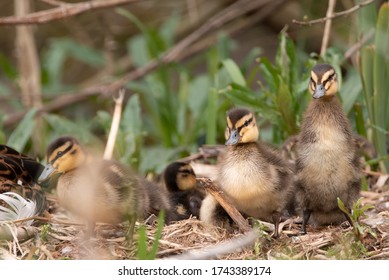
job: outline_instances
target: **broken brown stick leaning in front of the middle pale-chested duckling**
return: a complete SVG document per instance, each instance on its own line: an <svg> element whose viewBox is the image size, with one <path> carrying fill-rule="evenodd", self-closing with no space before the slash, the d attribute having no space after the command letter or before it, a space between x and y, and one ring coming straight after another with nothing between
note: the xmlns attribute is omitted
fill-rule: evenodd
<svg viewBox="0 0 389 280"><path fill-rule="evenodd" d="M242 217L235 206L229 201L222 190L220 190L212 181L208 178L198 178L200 185L210 193L216 201L226 210L231 219L238 225L242 232L247 232L251 229L247 221Z"/></svg>

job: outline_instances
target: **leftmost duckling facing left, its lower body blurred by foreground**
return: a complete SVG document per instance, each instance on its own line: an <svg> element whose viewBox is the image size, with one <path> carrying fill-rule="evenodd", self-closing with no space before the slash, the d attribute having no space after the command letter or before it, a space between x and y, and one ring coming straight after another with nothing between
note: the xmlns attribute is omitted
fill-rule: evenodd
<svg viewBox="0 0 389 280"><path fill-rule="evenodd" d="M169 199L161 188L117 161L88 156L73 137L60 137L49 145L47 165L39 179L53 173L61 173L57 182L60 205L86 219L89 231L96 222L135 222L135 217L158 215L160 210L170 219Z"/></svg>

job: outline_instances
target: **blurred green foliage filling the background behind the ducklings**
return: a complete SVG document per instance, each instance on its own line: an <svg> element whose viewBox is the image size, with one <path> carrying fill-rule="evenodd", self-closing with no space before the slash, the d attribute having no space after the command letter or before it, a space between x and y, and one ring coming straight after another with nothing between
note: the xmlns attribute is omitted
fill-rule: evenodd
<svg viewBox="0 0 389 280"><path fill-rule="evenodd" d="M367 137L372 134L380 156L386 155L389 126L384 112L389 105L385 90L389 64L385 51L388 30L383 23L387 20L387 6L381 10L378 17L373 5L358 12L355 28L358 36L376 29L374 46L362 50L361 73L345 61L339 46L329 48L318 59L296 47L285 29L279 34L274 58L265 57L259 48L253 48L239 65L231 58L237 42L220 33L217 43L206 52L185 63L162 65L144 78L129 82L126 88L130 95L123 108L115 157L142 174L160 172L168 162L195 152L202 144L223 143L225 112L232 106L246 106L255 111L262 139L278 146L299 131L311 98L307 92L310 69L318 61L337 69L342 84L340 98L355 131ZM175 31L182 21L179 13L162 25L151 27L128 10L116 11L139 29L139 34L126 42L134 67L158 60L174 45ZM77 90L77 85L64 79L69 59L95 70L107 63L102 50L71 38L52 39L41 56L44 101L55 98L58 92ZM2 54L0 69L6 79L16 81L17 70ZM105 77L114 78L114 74ZM0 97L8 98L8 104L20 110L21 102L12 98L10 92L12 89L0 81ZM33 150L42 158L44 147L64 134L75 135L86 145L102 149L114 104L100 98L88 102L40 118L34 118L35 112L29 111L12 131L1 126L2 114L0 140L26 153ZM33 149L36 134L41 139L39 148Z"/></svg>

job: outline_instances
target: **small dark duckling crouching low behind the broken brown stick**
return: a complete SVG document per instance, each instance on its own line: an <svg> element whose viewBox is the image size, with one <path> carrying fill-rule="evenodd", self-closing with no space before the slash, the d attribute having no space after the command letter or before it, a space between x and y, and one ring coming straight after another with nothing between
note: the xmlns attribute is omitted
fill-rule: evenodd
<svg viewBox="0 0 389 280"><path fill-rule="evenodd" d="M190 164L173 162L166 167L163 176L178 219L199 217L205 192L197 188L196 174Z"/></svg>

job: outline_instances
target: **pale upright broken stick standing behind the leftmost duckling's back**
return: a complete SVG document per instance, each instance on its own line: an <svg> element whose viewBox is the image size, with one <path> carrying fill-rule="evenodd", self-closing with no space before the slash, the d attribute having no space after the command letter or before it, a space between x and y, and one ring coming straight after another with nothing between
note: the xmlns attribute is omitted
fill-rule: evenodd
<svg viewBox="0 0 389 280"><path fill-rule="evenodd" d="M116 137L119 131L120 119L122 116L122 105L123 105L124 93L125 90L122 88L119 90L118 93L119 96L114 97L115 110L113 112L111 129L109 131L107 146L105 147L104 156L103 156L103 158L107 160L112 158L113 150L115 147Z"/></svg>

